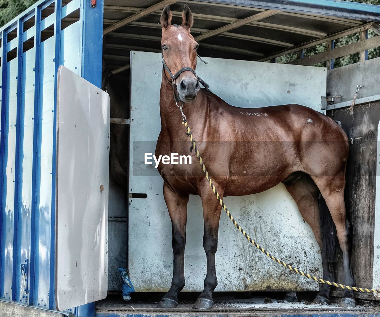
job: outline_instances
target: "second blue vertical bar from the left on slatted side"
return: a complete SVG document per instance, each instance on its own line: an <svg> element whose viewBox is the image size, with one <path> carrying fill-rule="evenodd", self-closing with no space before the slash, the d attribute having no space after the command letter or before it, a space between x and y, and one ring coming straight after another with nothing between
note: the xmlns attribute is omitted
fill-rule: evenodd
<svg viewBox="0 0 380 317"><path fill-rule="evenodd" d="M19 204L19 191L20 185L22 184L22 173L20 173L20 134L23 129L23 124L21 124L21 97L22 97L22 49L23 41L22 34L24 32L24 22L19 19L17 22L17 119L16 119L16 160L14 168L14 229L13 229L13 277L12 277L12 299L16 301L16 291L19 290L17 285L17 274L19 274L19 213L21 212ZM22 171L22 167L21 167Z"/></svg>

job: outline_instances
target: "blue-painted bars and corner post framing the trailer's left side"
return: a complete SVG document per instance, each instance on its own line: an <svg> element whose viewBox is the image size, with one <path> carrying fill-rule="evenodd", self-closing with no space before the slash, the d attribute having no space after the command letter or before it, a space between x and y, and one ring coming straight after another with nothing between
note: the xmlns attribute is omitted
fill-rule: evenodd
<svg viewBox="0 0 380 317"><path fill-rule="evenodd" d="M41 11L49 5L54 4L54 13L45 19L41 20ZM43 69L43 52L41 51L41 32L46 29L46 27L50 25L54 25L54 98L52 98L54 105L52 105L52 166L51 166L51 215L50 215L50 227L47 229L50 231L50 266L48 276L49 279L49 289L48 289L48 309L55 309L55 170L56 170L56 109L57 109L57 71L60 65L63 64L63 60L61 59L62 54L62 32L61 32L61 20L66 17L68 14L73 11L80 9L80 21L76 22L77 26L72 30L78 30L78 36L81 36L81 44L79 44L78 49L80 55L79 60L77 60L75 65L78 65L78 68L81 67L80 74L89 80L90 82L96 84L98 87L101 86L101 71L102 71L102 42L103 42L103 0L98 0L97 7L91 8L90 2L88 0L73 0L62 8L62 0L40 0L32 7L28 8L26 11L21 13L15 19L6 24L2 29L0 29L0 38L2 41L2 48L0 50L0 56L2 57L3 67L2 69L2 82L0 82L1 89L1 124L0 124L0 186L1 186L1 199L0 206L3 211L4 208L4 195L6 193L6 187L4 186L5 181L5 173L4 173L4 160L5 160L5 152L7 149L6 144L6 111L7 111L7 89L6 82L9 81L7 78L7 53L15 48L17 48L17 117L16 117L16 165L15 165L15 182L14 182L14 226L13 232L11 235L13 236L13 267L12 267L12 296L9 299L10 301L17 300L17 293L19 293L19 274L20 263L24 260L20 258L20 254L18 253L20 242L19 228L21 228L22 219L19 217L19 211L22 205L22 193L21 193L21 184L22 184L22 140L21 136L23 135L23 116L24 109L22 109L22 98L25 94L25 90L22 84L22 76L23 76L23 45L24 42L31 39L34 36L34 51L35 51L35 60L33 63L34 70L34 97L33 100L29 100L29 103L34 105L34 113L33 113L33 155L30 162L32 162L32 207L31 207L31 228L30 228L30 258L29 258L29 268L28 268L28 305L33 305L38 307L40 303L38 303L38 283L36 283L36 279L38 277L38 267L36 264L36 260L39 257L39 232L40 230L46 230L47 228L39 228L39 213L40 213L40 185L41 185L41 139L42 136L42 120L43 120L43 109L46 115L46 105L47 101L41 101L43 97L43 77L49 76L49 74L44 74L46 70ZM34 19L34 26L24 32L23 24L27 19ZM11 41L7 41L7 34L17 28L17 37ZM71 32L71 33L70 33ZM73 31L70 31L69 34L72 34ZM77 32L77 31L75 31ZM51 43L51 42L50 42ZM78 42L77 42L78 43ZM50 58L46 55L45 58ZM78 58L78 57L74 57ZM31 67L29 65L29 67ZM77 67L75 67L77 68ZM32 70L29 68L30 71ZM45 80L45 79L44 79ZM4 89L3 89L4 88ZM32 93L33 94L33 93ZM31 102L30 102L31 101ZM44 102L44 105L42 104ZM44 108L43 108L44 107ZM29 108L30 109L30 108ZM46 180L46 176L45 176ZM0 227L3 228L3 224L5 220L3 219L4 213L0 216ZM0 234L0 261L4 262L4 250L3 246L3 233ZM4 274L9 274L10 272L5 272L3 269L3 265L0 264L0 292L3 289L4 283ZM20 274L19 274L20 275ZM16 298L17 297L17 298ZM45 308L45 307L44 307ZM75 314L85 314L88 316L95 315L95 305L94 303L87 304L81 307L74 307L70 311L75 311Z"/></svg>

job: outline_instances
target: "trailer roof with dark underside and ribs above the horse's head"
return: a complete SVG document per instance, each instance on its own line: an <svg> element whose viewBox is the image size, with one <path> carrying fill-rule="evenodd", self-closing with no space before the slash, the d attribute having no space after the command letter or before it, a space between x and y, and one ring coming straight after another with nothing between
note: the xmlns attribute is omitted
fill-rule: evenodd
<svg viewBox="0 0 380 317"><path fill-rule="evenodd" d="M167 2L168 0L166 0ZM164 3L158 0L105 0L104 27L133 17L149 6ZM173 1L172 1L173 2ZM333 0L184 0L171 5L172 24L181 24L182 10L188 5L193 12L194 37L235 22L263 14L266 10L282 10L257 21L199 40L204 56L256 59L274 55L327 35L366 24L367 18L380 20L380 6ZM107 55L125 56L129 50L159 51L162 7L139 16L128 25L106 34ZM117 50L117 51L115 51ZM117 54L108 54L109 52ZM115 64L112 56L106 59ZM124 60L125 62L125 60ZM125 65L125 64L124 64Z"/></svg>

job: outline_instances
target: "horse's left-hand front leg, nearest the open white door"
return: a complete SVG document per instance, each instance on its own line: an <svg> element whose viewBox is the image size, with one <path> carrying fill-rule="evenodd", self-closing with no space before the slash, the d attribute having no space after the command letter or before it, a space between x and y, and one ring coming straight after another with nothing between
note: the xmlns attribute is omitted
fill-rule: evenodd
<svg viewBox="0 0 380 317"><path fill-rule="evenodd" d="M178 293L185 286L184 257L189 194L174 193L166 183L164 183L163 194L173 235L173 279L169 291L158 303L157 308L174 308L178 305Z"/></svg>

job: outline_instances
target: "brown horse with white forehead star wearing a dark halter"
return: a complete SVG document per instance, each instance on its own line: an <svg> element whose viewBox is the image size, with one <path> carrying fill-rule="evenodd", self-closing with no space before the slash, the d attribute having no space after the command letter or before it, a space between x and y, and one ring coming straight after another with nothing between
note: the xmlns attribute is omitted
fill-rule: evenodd
<svg viewBox="0 0 380 317"><path fill-rule="evenodd" d="M228 105L209 90L200 89L193 71L198 43L190 34L192 13L185 6L182 25L171 25L171 18L167 6L161 14L161 45L167 68L162 73L161 132L155 155L170 156L172 152L189 154L189 141L181 124L181 113L174 101L174 93L177 100L184 103L184 113L195 140L199 141L199 151L220 195L259 193L283 182L302 217L311 226L322 250L324 277L333 281L333 272L326 255L331 250L323 242L323 226L320 227L318 195L321 194L322 202L327 205L335 223L343 251L344 283L355 285L350 267L350 233L344 204L347 135L334 120L306 106L244 108L244 112L262 114L246 116L240 112L242 108ZM171 77L171 74L176 75ZM222 143L222 146L215 146ZM190 194L199 195L202 200L203 246L207 258L204 290L193 308L210 308L214 304L212 293L217 286L215 252L221 206L196 162L194 151L192 155L192 161L195 162L192 165L160 163L158 166L164 180L163 194L172 221L174 257L171 288L158 307L176 307L178 293L185 285L184 249ZM328 303L329 293L330 286L324 284L315 301ZM355 306L351 290L345 290L340 306Z"/></svg>

